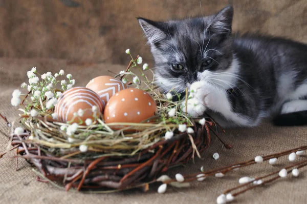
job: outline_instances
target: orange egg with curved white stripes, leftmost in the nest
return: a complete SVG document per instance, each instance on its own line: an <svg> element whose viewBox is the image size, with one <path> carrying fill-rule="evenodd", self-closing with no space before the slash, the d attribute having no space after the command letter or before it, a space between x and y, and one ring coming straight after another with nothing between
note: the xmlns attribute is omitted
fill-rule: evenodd
<svg viewBox="0 0 307 204"><path fill-rule="evenodd" d="M97 111L93 112L93 106ZM85 120L99 118L103 110L102 101L97 93L84 87L75 87L65 91L55 106L58 120L61 122L85 124Z"/></svg>

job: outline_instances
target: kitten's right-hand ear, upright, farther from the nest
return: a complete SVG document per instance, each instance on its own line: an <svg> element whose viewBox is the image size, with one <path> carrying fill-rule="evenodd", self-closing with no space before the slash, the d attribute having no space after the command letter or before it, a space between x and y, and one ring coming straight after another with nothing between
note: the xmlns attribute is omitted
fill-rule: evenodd
<svg viewBox="0 0 307 204"><path fill-rule="evenodd" d="M218 12L211 24L208 26L210 33L216 34L231 34L233 19L233 8L228 6Z"/></svg>

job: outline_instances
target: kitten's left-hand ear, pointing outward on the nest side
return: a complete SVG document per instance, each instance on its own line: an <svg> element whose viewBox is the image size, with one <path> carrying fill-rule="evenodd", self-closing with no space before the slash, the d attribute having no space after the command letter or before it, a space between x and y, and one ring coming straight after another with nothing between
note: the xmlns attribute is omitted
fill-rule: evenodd
<svg viewBox="0 0 307 204"><path fill-rule="evenodd" d="M138 17L138 21L148 39L150 45L155 45L166 38L166 23L150 21L149 19Z"/></svg>

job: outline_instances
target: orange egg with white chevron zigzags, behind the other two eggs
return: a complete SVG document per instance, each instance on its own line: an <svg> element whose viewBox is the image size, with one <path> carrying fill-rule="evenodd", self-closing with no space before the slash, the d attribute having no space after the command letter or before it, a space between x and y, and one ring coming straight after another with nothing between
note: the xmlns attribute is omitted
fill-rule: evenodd
<svg viewBox="0 0 307 204"><path fill-rule="evenodd" d="M117 92L127 89L127 86L122 83L121 80L112 76L98 76L93 78L87 85L89 88L95 91L101 98L103 105Z"/></svg>

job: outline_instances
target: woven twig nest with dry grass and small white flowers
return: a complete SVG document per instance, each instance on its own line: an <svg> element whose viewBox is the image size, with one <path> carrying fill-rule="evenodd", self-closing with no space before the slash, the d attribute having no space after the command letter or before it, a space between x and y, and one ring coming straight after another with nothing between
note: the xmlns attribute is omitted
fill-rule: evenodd
<svg viewBox="0 0 307 204"><path fill-rule="evenodd" d="M28 72L30 85L21 85L28 88L28 94L24 97L16 91L12 98L12 105L20 104L22 108L19 110L23 112L20 115L23 131L15 130L11 140L17 154L35 165L43 177L62 183L67 190L74 187L106 192L137 187L146 190L149 183L157 181L169 168L184 164L195 155L200 157L210 144L211 127L216 123L209 117L188 117L180 109L183 101L174 102L161 94L154 80L148 80L138 67L137 61L138 57L132 58L119 78L128 85L147 91L156 101L155 123L105 124L101 117L91 125L78 126L73 135L68 134L65 130L71 124L52 119L54 107L49 101L56 101L59 92L72 87L75 82L72 75L67 75L68 81L60 81L57 77L63 75L61 70L54 76L51 73L41 75L42 80L38 81L38 73L33 68ZM147 68L146 64L144 66ZM131 72L132 68L139 68L145 79L144 86ZM130 80L129 76L132 76ZM129 81L134 81L134 84ZM59 84L61 88L56 87ZM48 99L53 94L55 98ZM177 97L180 98L180 94ZM113 129L119 125L125 128ZM127 129L135 131L127 132Z"/></svg>

